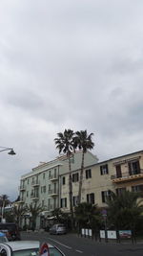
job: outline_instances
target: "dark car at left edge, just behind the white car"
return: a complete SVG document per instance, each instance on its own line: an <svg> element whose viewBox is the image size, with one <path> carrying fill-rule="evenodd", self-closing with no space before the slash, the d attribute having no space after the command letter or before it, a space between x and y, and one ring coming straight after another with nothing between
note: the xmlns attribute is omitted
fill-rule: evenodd
<svg viewBox="0 0 143 256"><path fill-rule="evenodd" d="M13 222L0 223L0 232L5 233L9 241L21 240L19 228L16 223L13 223Z"/></svg>

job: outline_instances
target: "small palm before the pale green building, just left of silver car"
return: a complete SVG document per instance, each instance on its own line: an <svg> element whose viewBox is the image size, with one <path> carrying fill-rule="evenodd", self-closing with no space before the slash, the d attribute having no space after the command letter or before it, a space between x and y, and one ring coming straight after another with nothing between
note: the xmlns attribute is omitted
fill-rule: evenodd
<svg viewBox="0 0 143 256"><path fill-rule="evenodd" d="M31 214L31 230L35 230L36 227L36 218L39 215L39 213L41 213L42 211L44 211L44 207L41 206L41 204L30 204L28 207L28 211Z"/></svg>

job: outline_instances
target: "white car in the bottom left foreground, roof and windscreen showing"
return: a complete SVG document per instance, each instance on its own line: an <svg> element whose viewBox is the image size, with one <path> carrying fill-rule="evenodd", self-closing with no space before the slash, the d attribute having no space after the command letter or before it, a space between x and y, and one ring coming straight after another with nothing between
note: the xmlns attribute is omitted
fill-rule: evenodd
<svg viewBox="0 0 143 256"><path fill-rule="evenodd" d="M57 247L48 244L50 256L65 256ZM40 243L37 241L15 241L0 244L0 256L38 256Z"/></svg>

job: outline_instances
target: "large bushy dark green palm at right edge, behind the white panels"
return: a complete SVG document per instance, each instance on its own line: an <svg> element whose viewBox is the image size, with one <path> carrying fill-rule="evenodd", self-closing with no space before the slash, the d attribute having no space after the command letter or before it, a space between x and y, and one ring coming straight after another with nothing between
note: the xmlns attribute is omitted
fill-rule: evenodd
<svg viewBox="0 0 143 256"><path fill-rule="evenodd" d="M134 233L136 223L143 213L142 201L138 193L130 191L124 191L120 195L112 193L107 199L109 223L117 230L131 229Z"/></svg>

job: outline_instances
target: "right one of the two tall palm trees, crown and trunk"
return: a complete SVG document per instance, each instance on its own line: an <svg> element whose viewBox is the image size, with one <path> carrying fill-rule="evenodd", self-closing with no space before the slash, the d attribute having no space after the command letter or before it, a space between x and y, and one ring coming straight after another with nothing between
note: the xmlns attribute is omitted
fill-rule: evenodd
<svg viewBox="0 0 143 256"><path fill-rule="evenodd" d="M79 150L82 150L82 160L81 160L81 170L79 177L79 190L78 190L78 202L81 203L81 190L83 183L83 172L84 172L84 159L85 153L88 150L92 150L94 147L94 143L92 142L93 133L88 134L87 130L80 130L75 132L74 136L74 147L78 147Z"/></svg>

